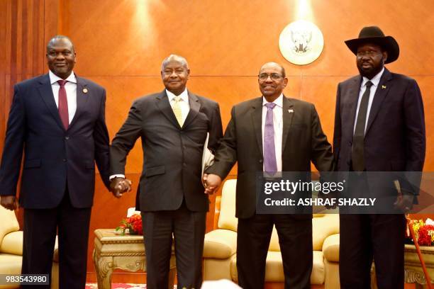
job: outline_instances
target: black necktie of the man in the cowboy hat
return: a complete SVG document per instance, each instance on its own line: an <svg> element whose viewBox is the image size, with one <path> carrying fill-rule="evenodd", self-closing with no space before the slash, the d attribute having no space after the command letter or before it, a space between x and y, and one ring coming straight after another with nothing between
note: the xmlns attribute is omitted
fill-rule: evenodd
<svg viewBox="0 0 434 289"><path fill-rule="evenodd" d="M365 126L367 117L367 107L369 103L369 94L371 93L372 82L367 81L365 92L360 101L359 113L357 114L356 127L352 137L351 162L353 171L365 170Z"/></svg>

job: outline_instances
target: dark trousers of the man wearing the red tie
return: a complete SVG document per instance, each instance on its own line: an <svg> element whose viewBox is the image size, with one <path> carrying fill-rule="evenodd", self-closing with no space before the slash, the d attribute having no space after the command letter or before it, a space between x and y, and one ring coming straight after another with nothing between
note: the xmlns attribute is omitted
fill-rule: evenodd
<svg viewBox="0 0 434 289"><path fill-rule="evenodd" d="M25 209L23 229L23 274L49 274L56 232L59 240L59 287L83 289L86 285L87 242L91 208L74 208L65 193L52 209ZM50 285L23 285L22 288L50 288Z"/></svg>

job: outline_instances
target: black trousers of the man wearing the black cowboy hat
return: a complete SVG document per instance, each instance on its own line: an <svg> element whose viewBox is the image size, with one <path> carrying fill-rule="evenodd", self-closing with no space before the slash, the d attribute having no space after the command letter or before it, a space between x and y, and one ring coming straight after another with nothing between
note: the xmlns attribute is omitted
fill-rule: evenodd
<svg viewBox="0 0 434 289"><path fill-rule="evenodd" d="M372 259L379 289L404 288L404 215L340 215L342 289L369 289Z"/></svg>

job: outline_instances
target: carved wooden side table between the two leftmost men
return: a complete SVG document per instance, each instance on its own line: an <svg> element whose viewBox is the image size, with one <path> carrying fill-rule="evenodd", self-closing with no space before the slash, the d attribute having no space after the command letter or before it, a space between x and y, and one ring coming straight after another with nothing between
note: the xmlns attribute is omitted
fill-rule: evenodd
<svg viewBox="0 0 434 289"><path fill-rule="evenodd" d="M146 271L143 236L116 234L114 229L95 230L94 265L99 289L111 289L113 269ZM174 250L170 258L169 289L173 289L176 273Z"/></svg>

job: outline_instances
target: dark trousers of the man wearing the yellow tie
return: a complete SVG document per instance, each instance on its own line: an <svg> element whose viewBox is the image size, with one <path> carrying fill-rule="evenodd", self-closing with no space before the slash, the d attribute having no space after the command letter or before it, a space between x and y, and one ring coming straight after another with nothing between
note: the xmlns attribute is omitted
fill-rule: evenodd
<svg viewBox="0 0 434 289"><path fill-rule="evenodd" d="M178 288L201 288L206 212L178 210L142 212L148 289L169 283L172 240L177 262Z"/></svg>

